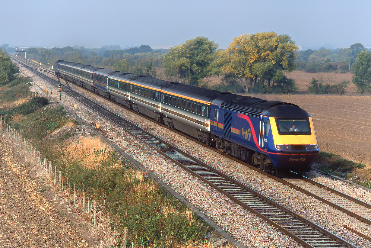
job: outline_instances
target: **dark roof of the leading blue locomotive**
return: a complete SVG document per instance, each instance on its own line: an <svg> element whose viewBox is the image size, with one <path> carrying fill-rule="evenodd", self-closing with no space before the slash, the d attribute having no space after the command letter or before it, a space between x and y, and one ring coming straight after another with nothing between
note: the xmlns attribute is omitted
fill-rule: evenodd
<svg viewBox="0 0 371 248"><path fill-rule="evenodd" d="M213 100L220 108L258 117L309 117L309 113L292 103L267 101L256 97L224 94Z"/></svg>

